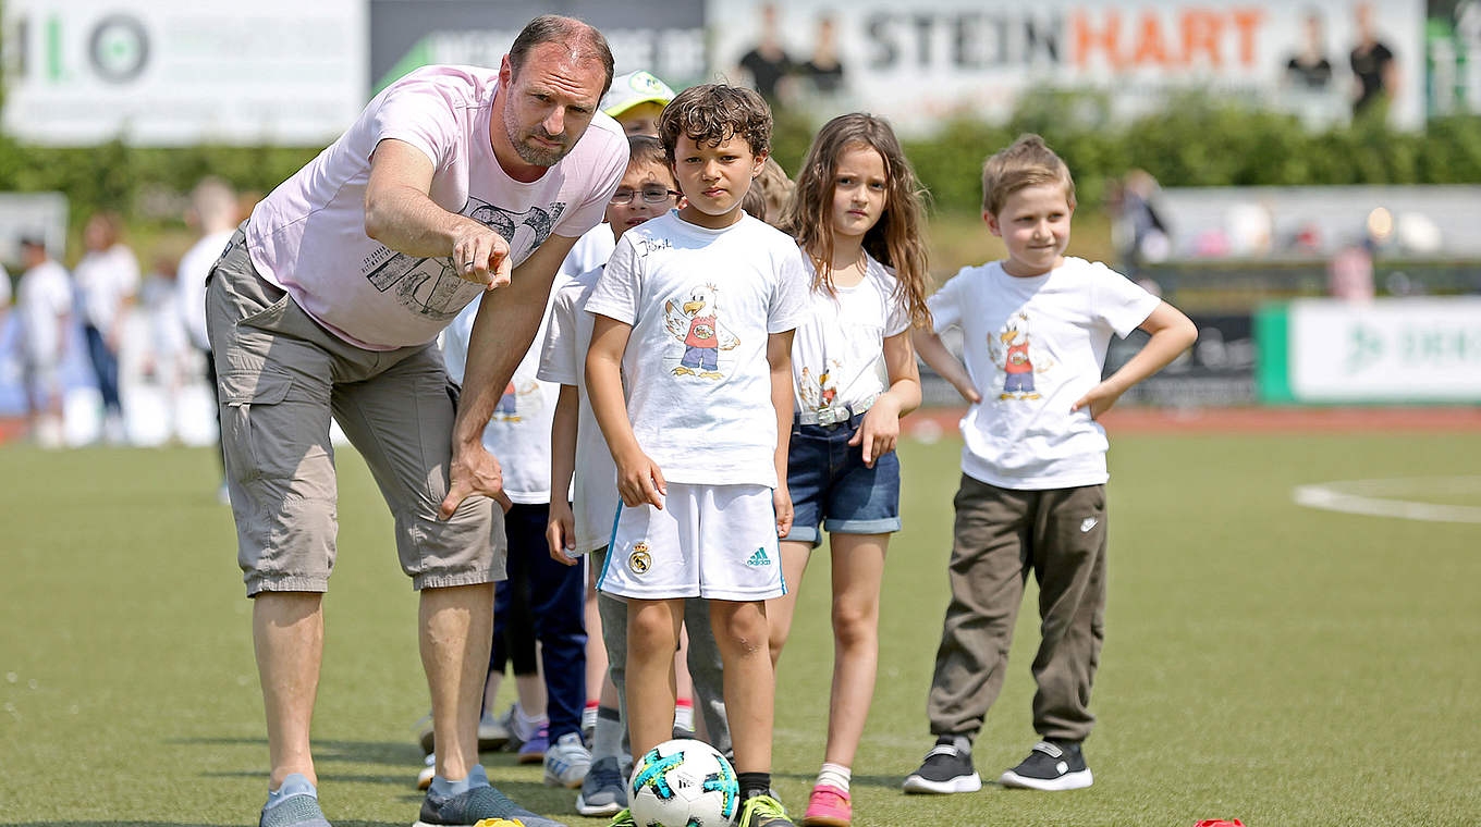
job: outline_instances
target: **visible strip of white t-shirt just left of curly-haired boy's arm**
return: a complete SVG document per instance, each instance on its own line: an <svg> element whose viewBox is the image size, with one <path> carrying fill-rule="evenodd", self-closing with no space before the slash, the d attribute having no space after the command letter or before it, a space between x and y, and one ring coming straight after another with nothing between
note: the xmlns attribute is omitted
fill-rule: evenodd
<svg viewBox="0 0 1481 827"><path fill-rule="evenodd" d="M619 502L618 466L612 462L612 451L601 436L597 414L591 410L591 395L586 394L586 351L591 349L595 321L586 312L586 300L598 278L600 266L567 281L555 294L538 374L545 382L573 385L581 396L576 413L576 473L572 481L578 555L607 544Z"/></svg>

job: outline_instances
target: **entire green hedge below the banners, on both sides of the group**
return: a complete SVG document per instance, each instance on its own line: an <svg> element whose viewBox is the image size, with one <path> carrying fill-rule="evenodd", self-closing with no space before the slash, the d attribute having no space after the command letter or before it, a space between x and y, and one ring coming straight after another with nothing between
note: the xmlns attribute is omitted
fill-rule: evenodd
<svg viewBox="0 0 1481 827"><path fill-rule="evenodd" d="M778 112L775 151L795 172L815 129L801 112ZM1163 111L1117 126L1100 95L1050 92L1026 101L1006 124L948 121L936 135L905 144L936 209L976 213L979 170L989 152L1022 132L1038 132L1075 175L1080 201L1102 203L1129 169L1164 186L1318 183L1481 183L1481 117L1432 120L1425 132L1355 123L1308 132L1291 115L1259 111L1211 95L1188 95ZM73 222L95 209L121 209L135 223L144 197L188 192L204 175L267 192L318 152L283 146L148 149L120 142L84 149L25 146L0 136L0 191L65 192Z"/></svg>

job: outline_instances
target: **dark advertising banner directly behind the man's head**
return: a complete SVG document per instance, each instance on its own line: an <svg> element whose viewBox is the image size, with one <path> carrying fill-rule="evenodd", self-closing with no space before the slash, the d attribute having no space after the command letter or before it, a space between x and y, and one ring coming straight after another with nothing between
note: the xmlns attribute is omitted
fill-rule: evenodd
<svg viewBox="0 0 1481 827"><path fill-rule="evenodd" d="M597 27L618 74L649 70L680 89L703 78L703 0L370 0L370 78L375 92L428 64L499 65L538 15L558 12Z"/></svg>

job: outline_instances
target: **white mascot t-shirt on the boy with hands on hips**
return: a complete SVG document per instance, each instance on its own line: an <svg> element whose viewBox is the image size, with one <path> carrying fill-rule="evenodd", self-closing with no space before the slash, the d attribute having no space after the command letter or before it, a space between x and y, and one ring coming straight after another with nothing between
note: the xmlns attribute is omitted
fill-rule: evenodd
<svg viewBox="0 0 1481 827"><path fill-rule="evenodd" d="M961 420L961 470L1000 488L1108 479L1105 429L1071 413L1100 382L1111 334L1126 337L1160 299L1102 263L1066 257L1017 278L1001 262L963 268L930 297L936 331L960 327L982 401Z"/></svg>

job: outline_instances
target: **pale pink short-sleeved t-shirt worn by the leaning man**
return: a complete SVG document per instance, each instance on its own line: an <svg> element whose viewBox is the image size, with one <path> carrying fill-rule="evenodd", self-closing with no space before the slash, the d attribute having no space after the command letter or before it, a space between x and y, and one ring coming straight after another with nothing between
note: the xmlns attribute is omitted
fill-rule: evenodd
<svg viewBox="0 0 1481 827"><path fill-rule="evenodd" d="M539 180L514 180L489 144L498 80L498 70L425 67L376 95L348 132L252 210L247 250L262 278L370 351L431 342L478 297L483 287L455 271L462 262L366 237L370 155L388 138L427 154L432 203L499 232L514 266L551 235L576 238L601 222L628 166L622 127L597 112Z"/></svg>

